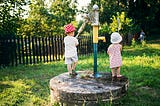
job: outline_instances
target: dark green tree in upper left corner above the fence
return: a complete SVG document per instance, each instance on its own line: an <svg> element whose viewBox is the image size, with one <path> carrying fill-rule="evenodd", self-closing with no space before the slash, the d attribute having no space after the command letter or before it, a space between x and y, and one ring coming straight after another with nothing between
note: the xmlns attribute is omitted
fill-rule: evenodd
<svg viewBox="0 0 160 106"><path fill-rule="evenodd" d="M19 21L25 11L25 0L3 0L0 2L0 36L10 37L17 34Z"/></svg>

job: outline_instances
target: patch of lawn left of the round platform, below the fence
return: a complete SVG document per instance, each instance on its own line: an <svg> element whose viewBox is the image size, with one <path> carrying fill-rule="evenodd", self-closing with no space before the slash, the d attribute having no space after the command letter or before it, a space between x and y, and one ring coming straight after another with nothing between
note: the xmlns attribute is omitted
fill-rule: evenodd
<svg viewBox="0 0 160 106"><path fill-rule="evenodd" d="M0 105L48 106L50 103L49 80L65 72L65 69L65 65L61 62L1 69ZM7 84L3 84L5 81L7 81ZM13 87L9 83L12 83ZM19 95L24 95L23 98L21 97L23 101L17 103L21 99ZM14 97L14 100L8 101L10 97Z"/></svg>

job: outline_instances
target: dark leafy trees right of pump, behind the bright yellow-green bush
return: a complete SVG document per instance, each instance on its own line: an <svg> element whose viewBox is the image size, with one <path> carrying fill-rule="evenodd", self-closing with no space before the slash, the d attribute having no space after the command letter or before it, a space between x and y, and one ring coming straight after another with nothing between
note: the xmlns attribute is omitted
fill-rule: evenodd
<svg viewBox="0 0 160 106"><path fill-rule="evenodd" d="M154 0L154 2L152 0L91 0L91 2L100 7L100 23L102 26L108 26L103 24L112 23L111 17L117 16L117 12L124 12L125 18L132 19L133 24L136 25L130 29L132 34L139 32L140 28L144 29L146 34L160 28L159 24L157 24L160 21L158 18L160 16L159 0ZM114 25L117 26L117 24ZM115 28L112 30L115 30ZM130 33L130 30L128 32L125 30L123 35Z"/></svg>

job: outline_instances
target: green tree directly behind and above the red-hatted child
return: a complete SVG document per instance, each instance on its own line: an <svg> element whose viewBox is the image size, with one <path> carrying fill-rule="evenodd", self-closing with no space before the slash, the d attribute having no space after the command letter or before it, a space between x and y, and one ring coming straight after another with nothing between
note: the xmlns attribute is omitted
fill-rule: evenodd
<svg viewBox="0 0 160 106"><path fill-rule="evenodd" d="M55 0L50 7L53 15L52 23L49 23L53 34L63 34L64 25L75 21L76 5L71 0Z"/></svg>

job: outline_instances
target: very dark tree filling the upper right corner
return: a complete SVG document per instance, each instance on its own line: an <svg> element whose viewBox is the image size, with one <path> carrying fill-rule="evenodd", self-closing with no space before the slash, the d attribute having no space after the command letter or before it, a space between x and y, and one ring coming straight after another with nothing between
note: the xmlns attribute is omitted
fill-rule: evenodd
<svg viewBox="0 0 160 106"><path fill-rule="evenodd" d="M159 7L159 0L130 0L128 16L133 18L136 24L140 24L141 28L149 33L150 29L157 27L155 24L158 23L158 20L155 21L155 19L160 14Z"/></svg>

